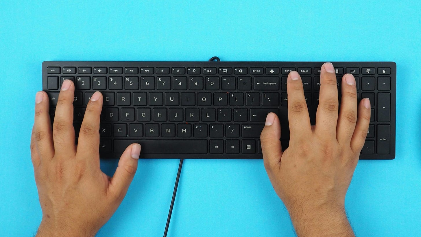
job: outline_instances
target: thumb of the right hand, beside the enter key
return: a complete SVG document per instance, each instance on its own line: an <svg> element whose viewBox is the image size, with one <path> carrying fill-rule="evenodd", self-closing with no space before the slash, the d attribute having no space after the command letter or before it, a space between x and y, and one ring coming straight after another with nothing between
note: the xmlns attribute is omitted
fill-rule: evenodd
<svg viewBox="0 0 421 237"><path fill-rule="evenodd" d="M266 124L260 134L263 162L266 170L281 161L281 124L275 113L266 116Z"/></svg>

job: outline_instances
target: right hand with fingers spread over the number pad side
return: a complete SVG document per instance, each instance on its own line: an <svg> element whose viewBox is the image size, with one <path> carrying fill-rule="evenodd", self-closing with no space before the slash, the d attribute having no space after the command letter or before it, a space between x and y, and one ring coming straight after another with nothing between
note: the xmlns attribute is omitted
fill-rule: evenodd
<svg viewBox="0 0 421 237"><path fill-rule="evenodd" d="M280 121L269 113L261 133L264 165L298 236L352 236L345 195L367 135L370 101L363 99L358 105L354 76L346 74L338 110L333 65L323 64L320 73L313 126L301 78L296 71L288 75L289 147L282 152Z"/></svg>

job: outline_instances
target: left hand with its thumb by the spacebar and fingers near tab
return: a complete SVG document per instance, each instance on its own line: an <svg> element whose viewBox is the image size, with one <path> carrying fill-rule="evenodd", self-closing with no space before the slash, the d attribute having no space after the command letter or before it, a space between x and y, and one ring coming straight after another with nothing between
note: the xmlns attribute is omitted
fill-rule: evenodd
<svg viewBox="0 0 421 237"><path fill-rule="evenodd" d="M123 201L137 170L139 144L126 148L112 178L100 170L100 92L92 95L86 107L75 145L74 93L73 82L65 80L53 129L48 95L36 94L31 158L43 211L37 236L94 236Z"/></svg>

